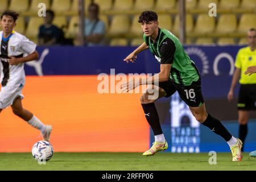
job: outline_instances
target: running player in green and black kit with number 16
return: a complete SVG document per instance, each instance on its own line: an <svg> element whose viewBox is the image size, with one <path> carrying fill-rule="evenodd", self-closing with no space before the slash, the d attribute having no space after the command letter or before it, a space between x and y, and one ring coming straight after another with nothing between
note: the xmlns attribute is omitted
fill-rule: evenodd
<svg viewBox="0 0 256 182"><path fill-rule="evenodd" d="M218 119L207 113L201 93L199 71L195 63L185 53L179 39L170 31L158 27L158 15L154 11L141 13L138 22L141 23L144 32L144 42L130 53L124 61L127 63L129 61L134 62L138 53L150 49L160 64L160 72L150 77L152 81L151 88L158 92L158 98L150 98L149 90L141 96L141 104L147 122L155 135L154 144L143 155L154 155L156 152L168 148L154 102L161 97L170 97L177 91L181 99L189 106L197 121L224 138L232 151L233 161L240 161L242 159L242 142L240 139L234 138ZM150 84L147 80L148 78L140 78L139 81L123 83L121 89L123 92L129 92L129 90L133 90L139 85ZM156 82L159 82L159 86L156 86Z"/></svg>

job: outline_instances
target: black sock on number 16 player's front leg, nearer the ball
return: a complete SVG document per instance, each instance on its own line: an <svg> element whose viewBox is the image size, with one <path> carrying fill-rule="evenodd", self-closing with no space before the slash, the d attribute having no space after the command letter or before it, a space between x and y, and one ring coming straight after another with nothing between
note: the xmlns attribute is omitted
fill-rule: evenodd
<svg viewBox="0 0 256 182"><path fill-rule="evenodd" d="M144 110L145 117L147 119L148 124L150 124L154 135L163 134L163 131L160 126L160 121L158 117L158 111L156 111L155 104L141 104Z"/></svg>

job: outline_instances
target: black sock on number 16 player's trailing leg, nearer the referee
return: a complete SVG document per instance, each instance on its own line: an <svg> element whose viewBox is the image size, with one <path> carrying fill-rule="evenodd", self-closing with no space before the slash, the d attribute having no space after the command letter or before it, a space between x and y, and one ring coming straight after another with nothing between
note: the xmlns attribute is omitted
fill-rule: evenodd
<svg viewBox="0 0 256 182"><path fill-rule="evenodd" d="M213 118L209 113L207 119L202 123L204 126L209 127L217 135L220 135L227 142L232 138L232 135L229 131L222 125L218 119Z"/></svg>

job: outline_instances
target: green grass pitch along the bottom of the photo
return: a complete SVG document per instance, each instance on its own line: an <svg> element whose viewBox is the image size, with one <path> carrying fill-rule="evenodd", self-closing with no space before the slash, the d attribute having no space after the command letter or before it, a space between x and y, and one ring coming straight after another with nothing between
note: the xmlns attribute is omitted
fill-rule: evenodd
<svg viewBox="0 0 256 182"><path fill-rule="evenodd" d="M142 153L61 153L39 165L31 153L0 153L0 170L86 170L86 171L171 171L171 170L256 170L256 158L243 154L232 162L231 153L217 153L217 164L209 164L208 153L172 154L159 152L150 157Z"/></svg>

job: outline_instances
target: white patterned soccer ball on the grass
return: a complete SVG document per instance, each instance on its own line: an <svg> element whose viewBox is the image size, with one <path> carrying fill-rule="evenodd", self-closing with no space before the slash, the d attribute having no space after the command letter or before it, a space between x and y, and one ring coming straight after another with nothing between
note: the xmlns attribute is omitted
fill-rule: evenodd
<svg viewBox="0 0 256 182"><path fill-rule="evenodd" d="M48 161L52 158L53 147L51 143L41 140L36 142L32 147L32 155L35 160L38 161Z"/></svg>

